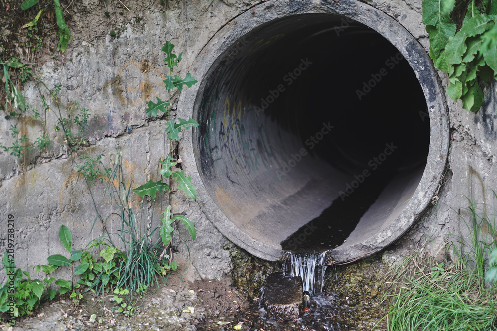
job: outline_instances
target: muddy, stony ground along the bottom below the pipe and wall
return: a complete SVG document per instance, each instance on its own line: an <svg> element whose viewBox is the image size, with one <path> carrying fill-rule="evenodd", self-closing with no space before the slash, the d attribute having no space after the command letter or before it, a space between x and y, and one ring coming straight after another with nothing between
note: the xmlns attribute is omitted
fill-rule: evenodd
<svg viewBox="0 0 497 331"><path fill-rule="evenodd" d="M244 253L246 254L246 253ZM248 255L247 255L248 256ZM110 300L86 292L76 305L63 297L44 303L34 314L3 330L386 330L388 306L381 301L386 266L379 256L350 265L328 267L323 293L298 319L269 319L260 302L259 282L275 265L257 258L234 265L232 278L185 282L178 272L167 284L150 288L134 305L134 316L117 312ZM235 260L236 262L236 260ZM252 280L250 280L252 279ZM234 286L237 284L238 287ZM262 308L262 309L261 309ZM95 315L93 315L95 314ZM376 326L376 328L375 328Z"/></svg>

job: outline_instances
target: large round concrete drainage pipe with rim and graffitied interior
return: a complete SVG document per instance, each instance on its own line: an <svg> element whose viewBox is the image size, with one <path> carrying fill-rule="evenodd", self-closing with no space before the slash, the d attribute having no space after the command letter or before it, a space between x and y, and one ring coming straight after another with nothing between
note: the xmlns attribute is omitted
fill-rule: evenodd
<svg viewBox="0 0 497 331"><path fill-rule="evenodd" d="M221 29L194 72L179 107L200 123L185 163L205 213L248 252L353 261L399 238L436 194L444 94L422 46L382 12L268 1Z"/></svg>

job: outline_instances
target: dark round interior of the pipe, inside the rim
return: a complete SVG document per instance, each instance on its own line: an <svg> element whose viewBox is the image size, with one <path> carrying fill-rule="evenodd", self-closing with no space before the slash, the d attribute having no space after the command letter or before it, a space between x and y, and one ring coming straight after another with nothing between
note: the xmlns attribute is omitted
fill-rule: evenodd
<svg viewBox="0 0 497 331"><path fill-rule="evenodd" d="M400 213L426 166L430 122L414 71L379 33L343 22L263 24L214 62L197 94L202 181L240 231L272 247L361 242Z"/></svg>

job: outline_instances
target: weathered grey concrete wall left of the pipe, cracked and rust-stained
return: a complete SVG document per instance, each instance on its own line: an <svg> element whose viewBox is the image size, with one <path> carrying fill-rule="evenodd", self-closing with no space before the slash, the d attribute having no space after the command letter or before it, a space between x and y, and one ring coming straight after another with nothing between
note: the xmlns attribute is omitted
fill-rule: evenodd
<svg viewBox="0 0 497 331"><path fill-rule="evenodd" d="M127 1L128 11L121 3L85 0L72 7L73 16L68 24L74 40L59 58L62 62L48 57L42 61L41 79L46 86L62 85L58 99L52 100L41 85L28 83L25 86L23 93L33 107L42 109L39 90L51 105L51 111L46 113L51 145L43 151L25 152L19 159L0 152L1 233L7 231L3 220L9 214L14 215L18 231L15 257L19 266L44 264L50 254L64 254L58 240L62 224L69 226L74 246L78 248L100 236L104 226L100 221L89 234L97 215L93 199L104 219L112 210L108 191L104 195L102 184L91 186L92 198L84 180L78 179L75 162L81 164L81 161L78 157L74 161L68 159L69 150L62 130L53 130L58 117L72 114L74 118L78 107L88 109L91 116L84 136L89 138L87 144L91 147L78 153L92 157L104 154L104 166L112 167L116 152L121 152L128 185L132 183L134 188L149 179L155 180L158 159L168 153L163 147L167 148L169 141L164 140L164 121L148 122L145 108L150 99L168 98L162 82L168 74L162 45L170 40L176 45L177 54L183 52L183 60L174 73L185 76L209 38L229 19L250 6L249 2L240 1L196 1L195 5L169 3L165 10L159 1ZM111 19L104 12L109 12ZM111 37L110 31L115 31L116 37ZM174 104L177 93L171 97ZM174 114L171 112L171 116ZM42 122L32 117L21 118L21 134L35 139L41 132ZM2 121L0 126L2 143L11 144L9 123ZM73 126L72 132L76 133L77 129ZM180 155L184 152L189 151L182 151L180 147ZM195 169L185 169L186 175L191 171ZM132 199L135 208L141 205L138 196L133 195ZM148 210L140 223L143 229L153 228L160 222L161 203L156 199L152 220L151 203L146 201ZM167 203L166 197L164 203ZM198 205L185 199L182 192L173 193L171 204L173 213L184 212L196 224L195 242L188 241L189 234L180 232L190 248L191 268L200 270L200 274L195 273L196 277L214 279L228 272L229 253L223 246L229 243L206 220ZM117 219L107 219L105 227L115 233L119 224ZM2 236L2 255L5 244ZM181 251L178 254L188 259L187 249L177 237L176 244ZM0 269L3 270L3 266ZM3 279L4 273L0 274Z"/></svg>

